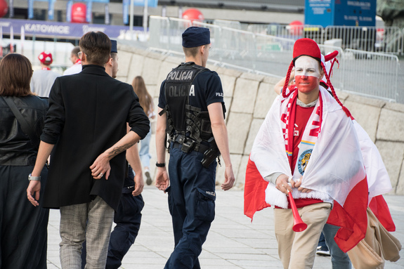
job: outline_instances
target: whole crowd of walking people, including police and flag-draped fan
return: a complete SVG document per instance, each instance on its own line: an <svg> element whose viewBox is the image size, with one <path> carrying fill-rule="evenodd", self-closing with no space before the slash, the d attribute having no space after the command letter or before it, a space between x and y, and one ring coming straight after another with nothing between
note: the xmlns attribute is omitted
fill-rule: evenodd
<svg viewBox="0 0 404 269"><path fill-rule="evenodd" d="M60 210L62 268L119 268L141 226L141 192L152 183L155 118L155 186L168 193L174 230L164 268L201 268L220 157L221 189L235 176L221 79L206 67L209 29L188 27L182 46L185 62L162 82L157 113L141 76L131 85L115 79L117 41L103 32L83 35L62 76L51 71L48 52L35 72L24 55L1 60L0 268L46 268L49 209ZM245 214L275 207L284 268L312 268L322 234L333 268L351 268L348 251L367 235L368 205L386 206L382 195L391 190L377 148L332 87L325 66L335 56L311 39L296 41L246 164ZM306 230L293 230L294 214ZM388 212L374 214L394 229Z"/></svg>

